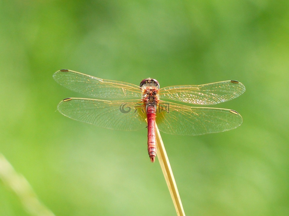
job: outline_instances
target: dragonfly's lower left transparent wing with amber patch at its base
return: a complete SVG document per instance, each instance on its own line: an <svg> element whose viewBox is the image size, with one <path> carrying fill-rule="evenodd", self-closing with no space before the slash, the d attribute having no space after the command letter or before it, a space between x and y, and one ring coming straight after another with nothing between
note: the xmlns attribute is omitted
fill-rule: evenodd
<svg viewBox="0 0 289 216"><path fill-rule="evenodd" d="M71 119L124 131L145 128L145 108L140 100L103 101L86 98L67 98L57 110Z"/></svg>

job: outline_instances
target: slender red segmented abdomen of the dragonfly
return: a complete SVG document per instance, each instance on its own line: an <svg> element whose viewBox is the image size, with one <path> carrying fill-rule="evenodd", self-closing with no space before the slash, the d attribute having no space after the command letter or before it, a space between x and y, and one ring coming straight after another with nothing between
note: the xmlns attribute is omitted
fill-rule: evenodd
<svg viewBox="0 0 289 216"><path fill-rule="evenodd" d="M148 155L151 158L151 162L154 162L157 152L157 143L156 143L156 109L154 106L148 106L147 110L147 119L148 119Z"/></svg>

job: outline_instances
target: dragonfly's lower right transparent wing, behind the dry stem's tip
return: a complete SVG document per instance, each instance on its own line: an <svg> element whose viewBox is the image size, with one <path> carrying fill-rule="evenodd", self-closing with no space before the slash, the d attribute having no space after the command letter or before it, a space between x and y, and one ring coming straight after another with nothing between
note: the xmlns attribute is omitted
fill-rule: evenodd
<svg viewBox="0 0 289 216"><path fill-rule="evenodd" d="M243 120L234 110L189 107L160 101L156 122L159 130L167 134L200 135L237 128Z"/></svg>

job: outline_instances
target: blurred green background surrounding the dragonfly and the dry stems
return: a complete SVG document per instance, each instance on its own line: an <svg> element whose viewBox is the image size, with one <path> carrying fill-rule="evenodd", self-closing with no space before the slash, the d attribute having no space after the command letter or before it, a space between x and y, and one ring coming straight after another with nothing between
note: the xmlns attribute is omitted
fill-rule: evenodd
<svg viewBox="0 0 289 216"><path fill-rule="evenodd" d="M146 130L71 120L70 69L161 87L238 80L235 130L162 134L186 215L289 215L288 1L0 1L0 152L55 215L176 215ZM0 215L30 215L0 181Z"/></svg>

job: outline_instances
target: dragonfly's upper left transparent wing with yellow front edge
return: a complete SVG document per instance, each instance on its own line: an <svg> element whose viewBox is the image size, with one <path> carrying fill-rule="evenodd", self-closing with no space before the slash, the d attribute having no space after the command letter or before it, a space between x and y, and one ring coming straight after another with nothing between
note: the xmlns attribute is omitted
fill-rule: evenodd
<svg viewBox="0 0 289 216"><path fill-rule="evenodd" d="M127 82L100 79L73 70L58 70L53 74L64 87L97 98L141 98L139 86Z"/></svg>

